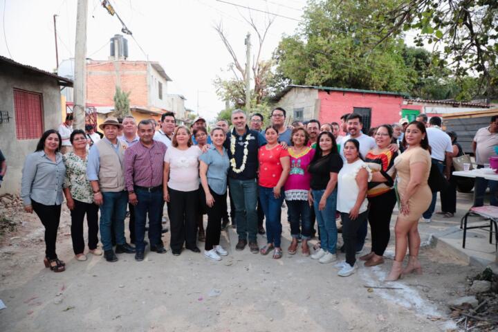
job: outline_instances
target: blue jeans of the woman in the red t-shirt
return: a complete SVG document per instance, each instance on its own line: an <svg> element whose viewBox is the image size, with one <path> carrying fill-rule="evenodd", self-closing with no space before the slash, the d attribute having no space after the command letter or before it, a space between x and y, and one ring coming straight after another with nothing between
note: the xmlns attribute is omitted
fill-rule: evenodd
<svg viewBox="0 0 498 332"><path fill-rule="evenodd" d="M273 246L280 247L282 237L282 223L280 222L280 211L284 201L284 190L281 190L280 197L275 199L273 188L259 187L259 202L266 218L266 240L273 243Z"/></svg>

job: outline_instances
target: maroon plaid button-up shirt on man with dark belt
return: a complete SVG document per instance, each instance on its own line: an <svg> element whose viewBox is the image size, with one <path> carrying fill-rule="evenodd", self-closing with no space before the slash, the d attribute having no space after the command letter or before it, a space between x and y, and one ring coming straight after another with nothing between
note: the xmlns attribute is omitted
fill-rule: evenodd
<svg viewBox="0 0 498 332"><path fill-rule="evenodd" d="M150 148L142 142L131 145L124 151L124 181L128 191L133 185L157 187L163 184L163 160L166 145L152 141Z"/></svg>

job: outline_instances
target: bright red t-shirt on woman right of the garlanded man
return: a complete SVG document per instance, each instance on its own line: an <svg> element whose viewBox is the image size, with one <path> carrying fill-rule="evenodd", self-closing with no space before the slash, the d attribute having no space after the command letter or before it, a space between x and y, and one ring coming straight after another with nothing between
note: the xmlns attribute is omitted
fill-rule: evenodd
<svg viewBox="0 0 498 332"><path fill-rule="evenodd" d="M266 149L266 145L259 148L259 185L261 187L273 188L277 185L282 174L280 158L288 157L288 151L277 145L273 149Z"/></svg>

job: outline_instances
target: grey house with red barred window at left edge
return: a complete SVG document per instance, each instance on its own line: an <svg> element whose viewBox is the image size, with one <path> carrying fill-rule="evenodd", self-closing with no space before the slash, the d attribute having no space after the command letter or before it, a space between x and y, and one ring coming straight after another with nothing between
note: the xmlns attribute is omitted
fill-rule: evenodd
<svg viewBox="0 0 498 332"><path fill-rule="evenodd" d="M62 89L73 81L0 56L0 149L7 174L0 194L19 193L26 156L42 133L62 123Z"/></svg>

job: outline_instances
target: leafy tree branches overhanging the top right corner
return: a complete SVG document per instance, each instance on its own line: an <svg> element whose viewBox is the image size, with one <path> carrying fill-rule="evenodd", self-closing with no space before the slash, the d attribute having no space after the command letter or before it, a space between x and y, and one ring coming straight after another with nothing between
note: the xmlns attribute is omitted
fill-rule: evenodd
<svg viewBox="0 0 498 332"><path fill-rule="evenodd" d="M494 89L498 1L399 0L391 10L376 12L375 19L385 32L376 45L414 29L418 46L433 44L435 65L450 68L455 77L479 77L477 94Z"/></svg>

